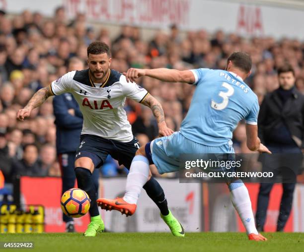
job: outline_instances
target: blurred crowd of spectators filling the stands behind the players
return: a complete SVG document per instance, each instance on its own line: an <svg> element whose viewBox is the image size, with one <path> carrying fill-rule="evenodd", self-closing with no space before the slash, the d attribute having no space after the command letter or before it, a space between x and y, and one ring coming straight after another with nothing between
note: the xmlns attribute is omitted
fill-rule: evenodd
<svg viewBox="0 0 304 252"><path fill-rule="evenodd" d="M95 40L110 45L111 68L120 72L129 67L224 69L232 52L246 51L253 61L252 74L246 82L260 103L267 92L278 88L276 69L288 61L296 72L296 86L304 93L304 43L299 40L248 39L224 31L211 34L204 29L181 36L175 25L166 32L156 31L151 41L142 37L140 28L125 25L112 40L111 31L102 24L90 25L83 14L68 20L62 7L51 19L28 10L12 16L0 11L0 169L6 182L17 174L60 176L52 98L24 122L16 121L15 114L34 92L67 72L71 57L86 62L86 47ZM146 77L140 84L161 102L167 126L178 130L195 87ZM127 100L126 111L141 143L157 136L150 109ZM236 151L249 151L244 125L236 128L233 138Z"/></svg>

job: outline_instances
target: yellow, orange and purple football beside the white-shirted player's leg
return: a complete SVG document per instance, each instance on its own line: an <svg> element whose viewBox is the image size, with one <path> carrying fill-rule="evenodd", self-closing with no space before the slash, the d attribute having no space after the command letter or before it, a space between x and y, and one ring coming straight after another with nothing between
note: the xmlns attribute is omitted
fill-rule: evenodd
<svg viewBox="0 0 304 252"><path fill-rule="evenodd" d="M90 208L90 198L84 190L72 188L61 197L61 209L64 214L79 218L87 213Z"/></svg>

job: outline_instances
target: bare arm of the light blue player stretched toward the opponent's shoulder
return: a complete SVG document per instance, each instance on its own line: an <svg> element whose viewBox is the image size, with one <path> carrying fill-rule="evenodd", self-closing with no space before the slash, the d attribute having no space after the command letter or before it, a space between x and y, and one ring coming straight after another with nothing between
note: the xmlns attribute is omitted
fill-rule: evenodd
<svg viewBox="0 0 304 252"><path fill-rule="evenodd" d="M128 82L136 82L136 80L141 76L149 76L166 82L183 82L190 84L195 82L195 76L190 70L179 71L176 69L168 68L130 68L127 72L124 72L123 74L126 76Z"/></svg>

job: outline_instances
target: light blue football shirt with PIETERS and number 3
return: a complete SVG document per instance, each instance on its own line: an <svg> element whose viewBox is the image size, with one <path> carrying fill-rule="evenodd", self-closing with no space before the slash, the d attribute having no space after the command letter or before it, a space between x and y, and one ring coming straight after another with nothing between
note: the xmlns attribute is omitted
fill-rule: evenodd
<svg viewBox="0 0 304 252"><path fill-rule="evenodd" d="M257 125L259 104L249 86L233 72L199 68L191 70L196 90L180 132L208 146L227 144L242 119Z"/></svg>

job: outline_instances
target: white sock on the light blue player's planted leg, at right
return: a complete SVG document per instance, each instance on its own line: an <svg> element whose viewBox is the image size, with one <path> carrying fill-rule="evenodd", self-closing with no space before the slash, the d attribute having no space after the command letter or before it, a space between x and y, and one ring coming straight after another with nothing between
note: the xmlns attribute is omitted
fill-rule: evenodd
<svg viewBox="0 0 304 252"><path fill-rule="evenodd" d="M229 185L229 189L231 202L245 226L247 235L251 233L257 235L258 231L254 223L251 200L244 183L241 180L237 180Z"/></svg>

